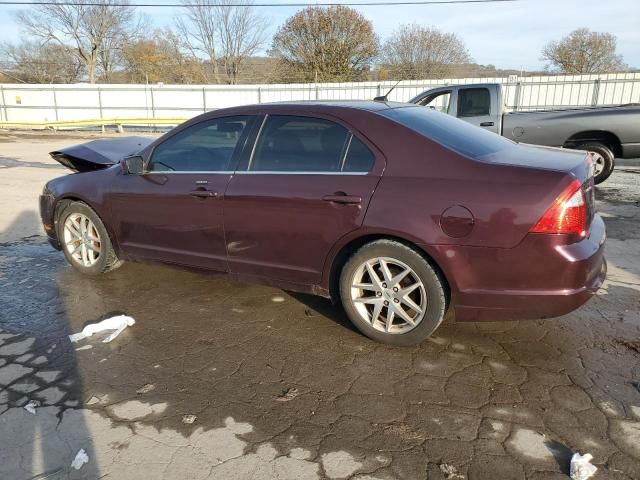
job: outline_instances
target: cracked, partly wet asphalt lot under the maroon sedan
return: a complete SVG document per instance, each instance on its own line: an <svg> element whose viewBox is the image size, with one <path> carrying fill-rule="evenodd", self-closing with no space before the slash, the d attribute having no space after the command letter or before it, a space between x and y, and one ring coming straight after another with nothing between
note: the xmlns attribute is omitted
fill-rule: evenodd
<svg viewBox="0 0 640 480"><path fill-rule="evenodd" d="M397 348L324 299L220 275L80 276L35 210L66 173L44 152L71 142L0 137L1 479L563 479L574 452L595 479L640 478L640 170L598 188L609 277L585 306L449 313ZM136 323L113 342L69 342L119 313Z"/></svg>

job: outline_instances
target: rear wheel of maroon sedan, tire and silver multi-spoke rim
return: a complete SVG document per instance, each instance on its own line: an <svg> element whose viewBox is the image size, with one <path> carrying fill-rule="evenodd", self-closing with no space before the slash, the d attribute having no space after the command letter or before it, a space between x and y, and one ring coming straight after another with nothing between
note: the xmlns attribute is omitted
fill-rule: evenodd
<svg viewBox="0 0 640 480"><path fill-rule="evenodd" d="M411 273L406 273L406 268ZM371 276L372 270L377 280ZM398 281L403 272L405 276ZM419 283L421 286L416 287ZM403 290L411 291L402 295ZM364 245L349 258L340 273L340 299L353 325L367 337L389 345L416 345L429 337L444 319L446 292L446 282L422 255L393 240L376 240ZM413 309L405 303L409 300L419 308ZM388 327L390 308L394 315ZM401 316L399 308L412 323Z"/></svg>

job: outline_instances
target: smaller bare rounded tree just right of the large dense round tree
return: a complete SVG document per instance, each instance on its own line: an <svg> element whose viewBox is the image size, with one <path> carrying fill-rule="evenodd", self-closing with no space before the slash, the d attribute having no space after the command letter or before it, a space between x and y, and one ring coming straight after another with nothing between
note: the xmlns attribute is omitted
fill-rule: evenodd
<svg viewBox="0 0 640 480"><path fill-rule="evenodd" d="M457 35L407 24L384 43L382 61L398 79L442 78L456 65L471 62L471 57Z"/></svg>

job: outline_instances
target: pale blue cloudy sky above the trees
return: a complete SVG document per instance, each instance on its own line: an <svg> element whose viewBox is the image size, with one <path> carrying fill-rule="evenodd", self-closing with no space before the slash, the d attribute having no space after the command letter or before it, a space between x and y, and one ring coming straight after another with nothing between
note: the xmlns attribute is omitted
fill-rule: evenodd
<svg viewBox="0 0 640 480"><path fill-rule="evenodd" d="M162 3L167 0L154 1ZM260 1L255 0L255 3ZM270 0L269 3L280 1L287 0ZM319 0L317 3L322 2ZM136 3L136 0L131 0L131 3ZM588 27L616 35L618 53L630 67L640 68L640 0L520 0L494 4L355 8L373 22L382 40L404 23L434 26L441 31L456 33L476 63L516 70L543 69L540 52L549 41L558 40L576 28ZM263 7L260 12L269 18L272 34L299 9ZM148 15L155 26L164 27L171 25L180 8L147 7L139 8L139 11ZM0 5L0 42L20 38L19 27L13 19L15 12L15 7Z"/></svg>

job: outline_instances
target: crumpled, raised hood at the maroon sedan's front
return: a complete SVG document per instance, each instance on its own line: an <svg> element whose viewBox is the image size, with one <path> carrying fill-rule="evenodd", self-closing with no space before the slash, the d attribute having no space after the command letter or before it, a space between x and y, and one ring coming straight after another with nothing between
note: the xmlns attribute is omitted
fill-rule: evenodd
<svg viewBox="0 0 640 480"><path fill-rule="evenodd" d="M153 138L125 137L92 140L51 152L49 155L77 172L100 170L134 155L153 142Z"/></svg>

